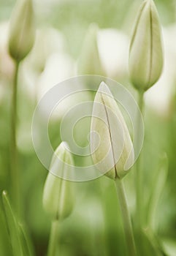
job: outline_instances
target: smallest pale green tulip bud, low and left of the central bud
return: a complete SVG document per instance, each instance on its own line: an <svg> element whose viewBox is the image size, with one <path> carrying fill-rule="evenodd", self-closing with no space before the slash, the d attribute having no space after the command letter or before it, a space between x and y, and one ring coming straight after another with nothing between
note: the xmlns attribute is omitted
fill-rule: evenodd
<svg viewBox="0 0 176 256"><path fill-rule="evenodd" d="M68 217L74 206L72 181L57 176L57 173L61 173L64 177L72 171L72 155L66 148L68 146L63 142L56 149L43 192L43 206L53 220Z"/></svg>

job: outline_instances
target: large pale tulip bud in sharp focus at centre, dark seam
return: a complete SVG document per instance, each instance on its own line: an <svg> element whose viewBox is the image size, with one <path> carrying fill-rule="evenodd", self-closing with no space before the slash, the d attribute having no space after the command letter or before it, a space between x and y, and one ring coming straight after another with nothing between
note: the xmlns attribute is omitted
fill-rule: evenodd
<svg viewBox="0 0 176 256"><path fill-rule="evenodd" d="M126 122L102 82L93 102L91 155L96 167L108 177L123 178L134 164L134 148Z"/></svg>

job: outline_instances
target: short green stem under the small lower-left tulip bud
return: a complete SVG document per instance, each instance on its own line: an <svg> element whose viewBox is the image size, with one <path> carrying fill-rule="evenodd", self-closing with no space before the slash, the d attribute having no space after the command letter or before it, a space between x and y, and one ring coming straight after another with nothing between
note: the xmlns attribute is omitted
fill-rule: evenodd
<svg viewBox="0 0 176 256"><path fill-rule="evenodd" d="M58 220L52 222L47 256L56 256L58 244Z"/></svg>

